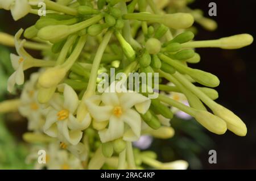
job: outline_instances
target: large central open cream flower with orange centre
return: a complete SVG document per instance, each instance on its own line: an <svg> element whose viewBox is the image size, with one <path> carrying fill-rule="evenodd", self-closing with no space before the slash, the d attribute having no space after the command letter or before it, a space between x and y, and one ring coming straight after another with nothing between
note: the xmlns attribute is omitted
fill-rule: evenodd
<svg viewBox="0 0 256 181"><path fill-rule="evenodd" d="M150 103L150 99L133 91L104 92L102 95L94 95L85 101L88 111L95 121L108 121L109 123L108 128L98 132L102 142L121 137L126 141L138 140L141 136L139 113L145 113Z"/></svg>

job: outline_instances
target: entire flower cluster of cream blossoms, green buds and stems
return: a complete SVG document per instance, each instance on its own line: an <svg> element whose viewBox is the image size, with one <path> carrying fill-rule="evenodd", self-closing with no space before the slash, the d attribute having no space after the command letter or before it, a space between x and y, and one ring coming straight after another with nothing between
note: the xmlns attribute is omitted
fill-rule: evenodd
<svg viewBox="0 0 256 181"><path fill-rule="evenodd" d="M0 0L0 8L11 10L18 20L36 14L36 3ZM37 150L46 150L46 163L36 163L36 169L187 169L185 161L161 163L155 153L139 151L132 144L142 135L174 136L170 120L179 111L210 132L224 134L229 129L246 135L243 121L214 101L218 92L212 88L219 85L219 79L188 64L200 61L195 48L242 48L253 42L251 35L195 41L194 20L208 30L214 30L216 23L181 0L44 3L46 15L31 27L20 29L14 37L0 35L0 42L13 45L18 53L10 55L15 71L7 89L14 92L15 85L25 82L19 101L1 107L7 111L18 107L28 119L30 132L23 135L24 140L41 144L28 161L36 159ZM22 34L29 40L21 39ZM32 57L27 48L42 51L43 58ZM24 81L24 70L29 68L39 69ZM113 85L125 81L121 79L98 92L98 75L110 74L110 68L126 75L159 73L160 82L169 83L160 83L155 91L161 94L155 99L148 97L150 91L120 92Z"/></svg>

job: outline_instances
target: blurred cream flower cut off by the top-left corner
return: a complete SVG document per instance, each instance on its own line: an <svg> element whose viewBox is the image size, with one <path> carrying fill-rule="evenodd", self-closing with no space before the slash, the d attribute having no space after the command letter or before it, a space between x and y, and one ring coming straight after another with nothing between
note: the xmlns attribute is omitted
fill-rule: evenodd
<svg viewBox="0 0 256 181"><path fill-rule="evenodd" d="M11 10L11 15L16 21L26 16L31 6L28 0L0 0L0 9Z"/></svg>

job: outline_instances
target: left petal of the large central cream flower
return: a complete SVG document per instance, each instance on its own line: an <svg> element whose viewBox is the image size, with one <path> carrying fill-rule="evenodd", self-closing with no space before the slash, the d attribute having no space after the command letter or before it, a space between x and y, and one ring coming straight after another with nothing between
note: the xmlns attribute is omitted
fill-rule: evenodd
<svg viewBox="0 0 256 181"><path fill-rule="evenodd" d="M109 120L110 116L113 113L113 106L97 106L95 103L95 96L91 99L85 100L85 105L90 112L90 115L96 121L106 121Z"/></svg>

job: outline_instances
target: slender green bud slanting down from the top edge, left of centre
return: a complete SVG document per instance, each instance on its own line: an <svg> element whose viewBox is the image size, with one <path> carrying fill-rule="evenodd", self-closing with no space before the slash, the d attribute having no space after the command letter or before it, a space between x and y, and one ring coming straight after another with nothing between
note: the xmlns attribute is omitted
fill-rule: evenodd
<svg viewBox="0 0 256 181"><path fill-rule="evenodd" d="M60 5L56 2L49 1L49 0L44 0L44 3L46 3L47 9L64 12L65 14L69 14L69 15L77 15L77 10L72 9L71 7Z"/></svg>

